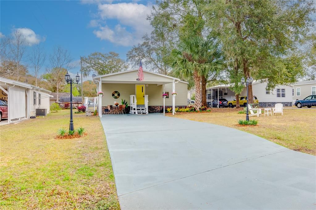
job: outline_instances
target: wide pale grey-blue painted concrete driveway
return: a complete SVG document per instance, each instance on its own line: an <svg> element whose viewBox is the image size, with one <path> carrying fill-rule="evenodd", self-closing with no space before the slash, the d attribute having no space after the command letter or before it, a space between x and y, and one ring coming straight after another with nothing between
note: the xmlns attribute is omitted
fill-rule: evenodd
<svg viewBox="0 0 316 210"><path fill-rule="evenodd" d="M101 123L122 209L316 209L313 155L162 114Z"/></svg>

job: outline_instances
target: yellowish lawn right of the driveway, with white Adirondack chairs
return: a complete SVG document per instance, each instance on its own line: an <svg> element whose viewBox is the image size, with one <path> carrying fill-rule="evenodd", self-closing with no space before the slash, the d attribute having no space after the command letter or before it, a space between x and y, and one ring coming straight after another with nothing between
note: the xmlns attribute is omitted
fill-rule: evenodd
<svg viewBox="0 0 316 210"><path fill-rule="evenodd" d="M315 110L284 109L283 116L250 117L258 119L260 126L239 126L240 109L216 109L211 112L178 113L174 117L223 125L258 135L279 145L316 155ZM172 115L168 115L173 117Z"/></svg>

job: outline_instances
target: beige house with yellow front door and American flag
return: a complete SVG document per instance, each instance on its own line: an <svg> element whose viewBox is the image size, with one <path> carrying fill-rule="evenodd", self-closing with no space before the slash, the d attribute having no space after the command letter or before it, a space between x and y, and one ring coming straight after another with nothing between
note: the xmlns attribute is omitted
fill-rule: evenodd
<svg viewBox="0 0 316 210"><path fill-rule="evenodd" d="M163 111L163 97L165 91L169 97L165 99L166 106L186 106L188 82L181 81L167 75L158 74L151 71L143 70L143 81L138 80L138 69L112 73L108 75L94 76L93 81L98 84L97 92L102 91L103 97L99 96L99 107L104 114L107 105L114 105L114 102L121 104L121 100L131 104L131 98L136 97L137 105L148 105L148 112ZM174 89L173 89L174 84ZM173 90L178 93L175 97L171 94ZM148 103L146 102L148 97ZM146 104L147 103L147 104Z"/></svg>

